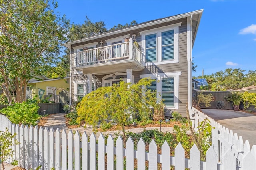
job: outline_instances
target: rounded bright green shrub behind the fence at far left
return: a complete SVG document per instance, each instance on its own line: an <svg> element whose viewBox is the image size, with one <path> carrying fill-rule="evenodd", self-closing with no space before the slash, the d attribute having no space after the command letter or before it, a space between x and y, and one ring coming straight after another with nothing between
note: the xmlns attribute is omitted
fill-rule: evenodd
<svg viewBox="0 0 256 170"><path fill-rule="evenodd" d="M36 103L15 103L0 110L6 115L12 123L24 125L36 125L36 121L40 118L38 115L39 106Z"/></svg>

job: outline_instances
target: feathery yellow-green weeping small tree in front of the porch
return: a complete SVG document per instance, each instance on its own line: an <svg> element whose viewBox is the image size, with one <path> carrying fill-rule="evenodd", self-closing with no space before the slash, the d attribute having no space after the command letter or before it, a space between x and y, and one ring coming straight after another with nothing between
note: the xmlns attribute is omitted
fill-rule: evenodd
<svg viewBox="0 0 256 170"><path fill-rule="evenodd" d="M113 119L120 127L124 143L126 143L124 126L131 114L138 112L140 117L149 117L156 106L156 93L144 90L142 87L150 86L155 80L141 79L138 83L131 84L121 81L119 85L100 87L89 93L77 106L78 121L84 120L93 125L97 132L99 122Z"/></svg>

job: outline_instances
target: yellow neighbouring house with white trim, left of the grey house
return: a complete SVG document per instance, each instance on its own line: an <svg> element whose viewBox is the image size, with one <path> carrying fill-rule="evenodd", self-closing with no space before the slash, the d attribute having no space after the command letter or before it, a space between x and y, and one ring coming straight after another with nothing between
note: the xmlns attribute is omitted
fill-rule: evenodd
<svg viewBox="0 0 256 170"><path fill-rule="evenodd" d="M46 77L47 78L47 77ZM37 95L37 99L45 99L50 95L54 97L59 95L63 90L69 89L69 77L63 79L44 79L44 80L30 80L27 87L27 99L32 99Z"/></svg>

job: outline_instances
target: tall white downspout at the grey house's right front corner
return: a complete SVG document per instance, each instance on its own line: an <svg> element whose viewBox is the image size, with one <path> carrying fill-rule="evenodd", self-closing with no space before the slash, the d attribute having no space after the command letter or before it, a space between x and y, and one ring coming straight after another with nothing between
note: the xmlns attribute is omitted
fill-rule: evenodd
<svg viewBox="0 0 256 170"><path fill-rule="evenodd" d="M188 61L188 111L192 114L192 18L187 18L187 61Z"/></svg>

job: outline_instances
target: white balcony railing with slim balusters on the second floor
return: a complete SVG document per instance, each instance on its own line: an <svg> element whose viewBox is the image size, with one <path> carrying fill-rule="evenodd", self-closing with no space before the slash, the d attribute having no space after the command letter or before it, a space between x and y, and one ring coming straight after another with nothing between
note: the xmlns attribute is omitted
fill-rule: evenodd
<svg viewBox="0 0 256 170"><path fill-rule="evenodd" d="M132 43L131 39L129 42L78 51L76 57L78 67L132 58L140 63L143 62L142 52Z"/></svg>

